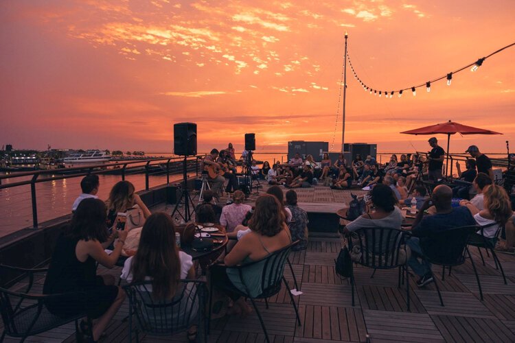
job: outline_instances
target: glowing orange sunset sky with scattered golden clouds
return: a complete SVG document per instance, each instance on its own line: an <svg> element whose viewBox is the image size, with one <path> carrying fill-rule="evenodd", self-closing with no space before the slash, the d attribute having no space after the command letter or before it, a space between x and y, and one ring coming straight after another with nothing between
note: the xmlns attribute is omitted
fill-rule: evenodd
<svg viewBox="0 0 515 343"><path fill-rule="evenodd" d="M514 43L514 14L513 0L3 0L0 145L171 152L180 121L198 124L199 151L240 151L245 132L258 150L331 145L345 30L361 80L397 91ZM455 135L451 152L503 152L514 62L511 47L400 99L365 93L347 68L345 141L426 151L428 137L398 132L453 119L504 135Z"/></svg>

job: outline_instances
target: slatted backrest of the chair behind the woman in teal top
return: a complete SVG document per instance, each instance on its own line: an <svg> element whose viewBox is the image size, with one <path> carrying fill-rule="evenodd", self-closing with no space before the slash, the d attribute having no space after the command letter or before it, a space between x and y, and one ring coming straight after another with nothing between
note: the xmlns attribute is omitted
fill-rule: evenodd
<svg viewBox="0 0 515 343"><path fill-rule="evenodd" d="M293 246L298 243L299 241L294 241L258 261L227 268L228 272L231 269L238 271L241 287L237 284L235 286L250 298L269 298L277 294L281 289L286 259Z"/></svg>

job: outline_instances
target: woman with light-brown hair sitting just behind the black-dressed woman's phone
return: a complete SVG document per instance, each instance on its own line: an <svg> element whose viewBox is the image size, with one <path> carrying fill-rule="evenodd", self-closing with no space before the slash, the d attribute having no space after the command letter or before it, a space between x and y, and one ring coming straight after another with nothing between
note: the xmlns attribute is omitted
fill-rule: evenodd
<svg viewBox="0 0 515 343"><path fill-rule="evenodd" d="M128 181L119 181L117 182L111 192L109 193L109 198L106 201L107 205L107 223L108 227L111 227L115 222L115 218L117 213L126 212L131 209L136 209L139 213L143 214L143 218L133 216L133 226L143 226L145 219L150 216L150 210L145 205L145 203L139 198L139 196L135 193L134 185Z"/></svg>

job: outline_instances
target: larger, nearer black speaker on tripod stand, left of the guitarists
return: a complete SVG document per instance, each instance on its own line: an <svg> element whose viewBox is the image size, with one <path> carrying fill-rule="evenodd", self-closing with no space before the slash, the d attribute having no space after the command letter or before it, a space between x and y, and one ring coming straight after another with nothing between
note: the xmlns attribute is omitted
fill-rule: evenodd
<svg viewBox="0 0 515 343"><path fill-rule="evenodd" d="M172 217L175 213L183 218L184 222L189 222L192 213L195 211L190 192L187 189L187 156L196 155L196 123L175 123L174 124L174 154L184 156L183 160L183 186L181 196L176 202ZM181 213L179 206L184 205L184 213ZM190 208L191 205L191 208Z"/></svg>

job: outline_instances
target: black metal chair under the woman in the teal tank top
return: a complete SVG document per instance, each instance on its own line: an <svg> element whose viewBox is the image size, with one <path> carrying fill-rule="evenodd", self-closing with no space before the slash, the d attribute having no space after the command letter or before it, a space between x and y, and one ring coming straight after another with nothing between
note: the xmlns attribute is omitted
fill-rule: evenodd
<svg viewBox="0 0 515 343"><path fill-rule="evenodd" d="M291 248L297 244L298 241L293 242L289 246L286 246L280 250L272 252L270 255L260 259L258 261L253 261L251 263L246 263L244 265L236 265L234 267L226 267L227 270L233 270L238 274L239 281L243 285L243 289L236 287L235 285L227 285L226 289L230 292L234 292L239 294L240 296L244 296L245 298L249 298L251 300L252 306L255 309L255 313L258 314L258 318L260 320L261 327L263 329L263 333L266 338L266 342L270 342L268 338L268 333L266 332L266 327L264 326L263 318L260 314L258 307L255 305L255 299L264 299L266 301L267 298L271 296L275 296L275 294L279 293L282 287L282 283L286 286L286 290L288 291L288 295L290 296L291 303L293 304L293 308L295 309L295 314L297 315L297 322L301 325L301 320L299 316L299 310L297 309L297 304L295 303L295 299L290 292L290 286L288 286L288 282L284 278L284 267L286 265L286 261L288 259L288 255L290 255ZM261 274L261 293L257 295L252 295L249 290L249 285L247 285L246 276L249 273L254 272L253 268L256 265L262 264L262 274ZM248 272L250 270L250 272ZM292 269L293 273L293 269ZM212 294L213 283L211 283L210 294ZM266 307L268 308L268 303L266 303ZM211 308L211 299L209 300L209 308Z"/></svg>

